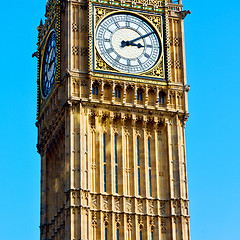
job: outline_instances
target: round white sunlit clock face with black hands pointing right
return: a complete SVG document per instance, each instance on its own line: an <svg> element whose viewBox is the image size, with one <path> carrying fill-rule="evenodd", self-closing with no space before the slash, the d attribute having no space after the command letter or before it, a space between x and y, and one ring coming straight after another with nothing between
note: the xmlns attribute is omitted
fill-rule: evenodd
<svg viewBox="0 0 240 240"><path fill-rule="evenodd" d="M103 60L125 73L151 69L161 55L156 30L142 18L117 13L103 19L96 30L96 47Z"/></svg>

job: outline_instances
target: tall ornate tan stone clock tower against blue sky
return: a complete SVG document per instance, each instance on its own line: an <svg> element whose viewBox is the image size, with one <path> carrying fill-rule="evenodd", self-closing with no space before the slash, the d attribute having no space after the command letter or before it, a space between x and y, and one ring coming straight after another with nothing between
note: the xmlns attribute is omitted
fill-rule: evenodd
<svg viewBox="0 0 240 240"><path fill-rule="evenodd" d="M190 240L181 0L48 0L41 240Z"/></svg>

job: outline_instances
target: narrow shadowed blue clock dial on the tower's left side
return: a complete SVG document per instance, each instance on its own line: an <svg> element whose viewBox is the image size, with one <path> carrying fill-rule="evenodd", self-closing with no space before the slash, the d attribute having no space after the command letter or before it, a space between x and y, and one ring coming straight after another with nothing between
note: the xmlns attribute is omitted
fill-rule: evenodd
<svg viewBox="0 0 240 240"><path fill-rule="evenodd" d="M46 98L51 91L57 67L57 35L52 31L45 48L42 67L42 94Z"/></svg>

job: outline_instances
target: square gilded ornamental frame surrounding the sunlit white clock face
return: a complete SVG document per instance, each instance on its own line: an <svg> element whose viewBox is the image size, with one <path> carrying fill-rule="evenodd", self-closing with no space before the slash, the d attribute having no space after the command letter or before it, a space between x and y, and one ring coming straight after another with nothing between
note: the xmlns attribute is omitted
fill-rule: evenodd
<svg viewBox="0 0 240 240"><path fill-rule="evenodd" d="M107 77L110 79L122 79L147 82L147 81L166 81L166 52L165 52L165 29L164 29L164 14L156 12L148 12L144 10L134 9L123 9L116 6L106 6L99 3L89 3L89 74L94 77ZM98 24L106 17L115 13L130 13L137 17L144 19L150 24L157 32L158 37L161 41L161 57L158 62L148 71L143 73L128 74L118 71L109 66L98 54L95 43L95 32Z"/></svg>

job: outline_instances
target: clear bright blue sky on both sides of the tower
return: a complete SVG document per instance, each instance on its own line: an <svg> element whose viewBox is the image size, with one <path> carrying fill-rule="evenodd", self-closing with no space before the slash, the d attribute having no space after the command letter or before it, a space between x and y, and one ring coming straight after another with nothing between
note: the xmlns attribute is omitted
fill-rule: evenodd
<svg viewBox="0 0 240 240"><path fill-rule="evenodd" d="M239 239L240 2L185 0L193 240ZM0 238L39 239L37 30L45 0L1 2Z"/></svg>

